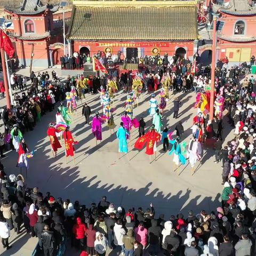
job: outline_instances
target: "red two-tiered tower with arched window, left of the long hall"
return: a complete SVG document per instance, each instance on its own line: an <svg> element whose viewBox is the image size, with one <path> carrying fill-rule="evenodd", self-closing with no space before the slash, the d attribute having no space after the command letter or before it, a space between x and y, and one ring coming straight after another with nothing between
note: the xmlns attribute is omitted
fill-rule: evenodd
<svg viewBox="0 0 256 256"><path fill-rule="evenodd" d="M19 66L48 67L59 63L63 54L63 23L54 22L53 17L58 9L59 4L44 5L40 0L23 0L19 7L5 7L13 21L13 33L8 34Z"/></svg>

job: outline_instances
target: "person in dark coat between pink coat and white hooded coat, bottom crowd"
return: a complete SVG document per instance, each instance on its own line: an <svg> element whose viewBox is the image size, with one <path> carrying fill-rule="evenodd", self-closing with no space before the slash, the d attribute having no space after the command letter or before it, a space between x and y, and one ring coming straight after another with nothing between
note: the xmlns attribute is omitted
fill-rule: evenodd
<svg viewBox="0 0 256 256"><path fill-rule="evenodd" d="M157 220L151 220L151 227L148 229L149 254L157 255L160 251L159 240L161 236L161 227L157 225Z"/></svg>

